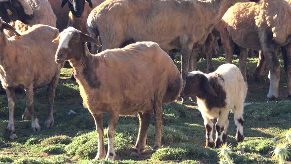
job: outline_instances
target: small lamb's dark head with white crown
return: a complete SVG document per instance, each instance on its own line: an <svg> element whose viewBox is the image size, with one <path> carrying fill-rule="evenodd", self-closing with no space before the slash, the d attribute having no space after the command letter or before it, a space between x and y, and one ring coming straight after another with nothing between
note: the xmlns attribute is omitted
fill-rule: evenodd
<svg viewBox="0 0 291 164"><path fill-rule="evenodd" d="M212 95L217 97L207 77L199 71L190 72L186 77L184 87L185 96L191 95ZM205 96L203 96L205 97Z"/></svg>

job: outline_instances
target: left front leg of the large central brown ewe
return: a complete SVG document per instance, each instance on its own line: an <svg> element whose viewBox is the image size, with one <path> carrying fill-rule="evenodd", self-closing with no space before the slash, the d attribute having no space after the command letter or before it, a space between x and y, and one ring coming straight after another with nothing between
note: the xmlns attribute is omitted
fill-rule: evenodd
<svg viewBox="0 0 291 164"><path fill-rule="evenodd" d="M103 128L103 115L102 114L92 114L96 131L98 133L98 152L95 157L95 160L104 159L106 157L105 147L104 147L104 128Z"/></svg>

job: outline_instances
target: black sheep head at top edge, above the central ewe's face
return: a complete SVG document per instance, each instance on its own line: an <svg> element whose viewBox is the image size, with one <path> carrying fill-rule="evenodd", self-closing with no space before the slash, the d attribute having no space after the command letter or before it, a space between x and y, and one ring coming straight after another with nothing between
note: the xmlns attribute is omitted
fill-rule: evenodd
<svg viewBox="0 0 291 164"><path fill-rule="evenodd" d="M91 0L86 0L89 3L89 6L92 8L93 4ZM69 8L73 13L73 16L79 18L82 16L82 13L85 8L85 0L62 0L61 7L63 8L68 2Z"/></svg>

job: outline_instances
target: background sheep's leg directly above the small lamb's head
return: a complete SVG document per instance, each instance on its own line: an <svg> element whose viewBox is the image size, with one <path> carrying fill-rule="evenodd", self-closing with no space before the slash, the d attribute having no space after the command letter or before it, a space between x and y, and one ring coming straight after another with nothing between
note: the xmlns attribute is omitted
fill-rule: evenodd
<svg viewBox="0 0 291 164"><path fill-rule="evenodd" d="M209 34L204 44L204 52L207 59L207 72L208 73L215 71L214 66L213 66L213 61L212 61L212 53L210 52L210 50L213 47L213 40L214 40L213 35Z"/></svg>

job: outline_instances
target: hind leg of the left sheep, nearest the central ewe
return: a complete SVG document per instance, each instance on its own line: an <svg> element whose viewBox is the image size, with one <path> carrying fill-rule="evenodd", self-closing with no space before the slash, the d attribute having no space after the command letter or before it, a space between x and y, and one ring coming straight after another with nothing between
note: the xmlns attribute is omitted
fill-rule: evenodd
<svg viewBox="0 0 291 164"><path fill-rule="evenodd" d="M52 81L47 86L48 110L47 110L47 118L44 122L46 127L52 127L55 124L54 117L53 117L53 105L54 105L56 87L59 82L59 78L60 78L60 74L57 73L56 76L52 79Z"/></svg>

